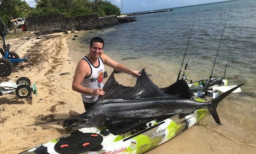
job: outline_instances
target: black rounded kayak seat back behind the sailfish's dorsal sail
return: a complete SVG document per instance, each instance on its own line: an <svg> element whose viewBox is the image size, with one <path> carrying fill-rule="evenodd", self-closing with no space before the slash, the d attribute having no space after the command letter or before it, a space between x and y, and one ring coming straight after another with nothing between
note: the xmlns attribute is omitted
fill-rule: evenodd
<svg viewBox="0 0 256 154"><path fill-rule="evenodd" d="M192 97L192 92L184 80L178 80L169 87L162 88L161 90L166 94L178 95L182 99L190 99Z"/></svg>

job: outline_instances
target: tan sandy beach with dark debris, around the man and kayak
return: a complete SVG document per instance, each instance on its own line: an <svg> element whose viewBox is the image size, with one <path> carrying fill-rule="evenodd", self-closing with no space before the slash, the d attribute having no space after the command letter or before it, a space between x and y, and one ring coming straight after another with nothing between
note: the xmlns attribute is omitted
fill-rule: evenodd
<svg viewBox="0 0 256 154"><path fill-rule="evenodd" d="M79 33L82 32L69 31L69 34L30 36L30 39L19 37L7 41L11 45L10 51L17 52L20 57L29 54L30 59L27 63L16 66L11 75L1 78L0 82L16 82L19 77L27 77L31 83L37 84L38 97L32 95L32 99L19 99L15 94L0 96L0 154L17 154L68 133L56 123L30 127L25 127L26 125L46 119L68 118L69 110L84 112L80 94L71 87L76 64L82 58L78 57L80 55L74 49L75 45L72 45L73 35L79 36ZM87 52L88 49L85 48L84 54ZM112 69L106 67L106 71L110 75ZM65 75L60 75L61 73ZM126 74L118 74L117 80L120 78L127 79L122 80L121 84L133 86L136 82L135 78ZM219 127L209 118L211 117L206 116L198 125L148 154L255 153L255 141L243 142L232 136L227 137L223 132L228 127ZM219 131L212 127L219 127ZM250 134L245 136L247 135Z"/></svg>

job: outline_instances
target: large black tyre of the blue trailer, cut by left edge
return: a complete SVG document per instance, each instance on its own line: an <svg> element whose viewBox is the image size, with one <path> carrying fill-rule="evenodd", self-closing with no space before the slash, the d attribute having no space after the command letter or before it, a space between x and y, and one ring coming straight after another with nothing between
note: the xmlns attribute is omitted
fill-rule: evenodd
<svg viewBox="0 0 256 154"><path fill-rule="evenodd" d="M0 58L0 77L10 75L12 70L12 63L8 59Z"/></svg>

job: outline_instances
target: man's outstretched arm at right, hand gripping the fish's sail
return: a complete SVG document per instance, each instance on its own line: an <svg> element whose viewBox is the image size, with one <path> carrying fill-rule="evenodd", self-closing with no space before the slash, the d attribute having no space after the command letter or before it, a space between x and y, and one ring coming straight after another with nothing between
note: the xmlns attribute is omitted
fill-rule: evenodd
<svg viewBox="0 0 256 154"><path fill-rule="evenodd" d="M108 57L106 54L102 54L101 58L104 60L104 63L120 72L125 72L127 74L133 75L133 76L140 76L139 71L131 70L125 65L118 63L114 60L112 60L110 57Z"/></svg>

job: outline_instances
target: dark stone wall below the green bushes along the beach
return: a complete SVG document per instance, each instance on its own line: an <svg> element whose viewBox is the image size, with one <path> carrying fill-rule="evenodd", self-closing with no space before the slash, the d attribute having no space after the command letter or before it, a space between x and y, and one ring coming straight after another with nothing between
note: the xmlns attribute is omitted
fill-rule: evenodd
<svg viewBox="0 0 256 154"><path fill-rule="evenodd" d="M107 27L119 23L117 16L99 18L98 14L64 17L63 14L28 17L27 29L37 31L40 29L61 30L89 30L98 27Z"/></svg>

